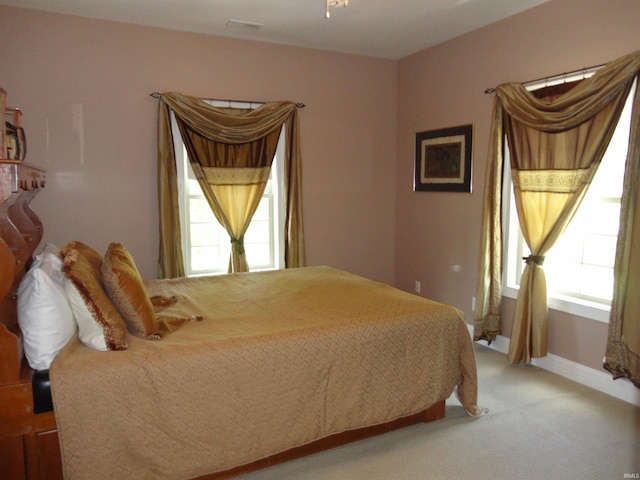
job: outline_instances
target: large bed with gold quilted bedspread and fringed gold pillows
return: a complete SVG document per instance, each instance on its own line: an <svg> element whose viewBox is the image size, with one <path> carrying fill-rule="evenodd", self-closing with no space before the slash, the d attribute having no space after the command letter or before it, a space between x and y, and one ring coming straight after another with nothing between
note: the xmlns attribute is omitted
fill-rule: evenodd
<svg viewBox="0 0 640 480"><path fill-rule="evenodd" d="M0 325L11 478L228 478L441 418L454 391L482 413L450 306L330 267L142 281L119 243L70 242L36 266L47 256L78 330L44 371L11 310L30 260L0 263L15 275Z"/></svg>

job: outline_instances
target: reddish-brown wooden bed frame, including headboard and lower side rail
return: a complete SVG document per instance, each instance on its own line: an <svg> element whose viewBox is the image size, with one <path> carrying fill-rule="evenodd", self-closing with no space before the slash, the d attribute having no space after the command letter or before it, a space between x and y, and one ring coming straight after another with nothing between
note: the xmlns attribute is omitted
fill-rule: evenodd
<svg viewBox="0 0 640 480"><path fill-rule="evenodd" d="M0 160L0 471L11 479L61 479L62 462L53 411L34 412L32 379L23 354L16 292L42 240L42 223L30 202L45 186L45 171ZM444 400L409 417L332 435L205 479L231 478L408 425L443 418Z"/></svg>

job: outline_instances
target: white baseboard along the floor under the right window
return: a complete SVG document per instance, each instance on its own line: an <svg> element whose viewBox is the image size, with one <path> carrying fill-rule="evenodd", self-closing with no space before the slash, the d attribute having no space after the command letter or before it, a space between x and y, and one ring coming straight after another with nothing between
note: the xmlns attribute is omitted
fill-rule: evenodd
<svg viewBox="0 0 640 480"><path fill-rule="evenodd" d="M469 325L469 331L473 338L473 325ZM485 342L482 343L486 345ZM509 339L499 335L489 348L506 355L509 351ZM611 374L604 370L586 367L552 353L544 358L534 358L531 364L640 407L640 389L626 378L614 381Z"/></svg>

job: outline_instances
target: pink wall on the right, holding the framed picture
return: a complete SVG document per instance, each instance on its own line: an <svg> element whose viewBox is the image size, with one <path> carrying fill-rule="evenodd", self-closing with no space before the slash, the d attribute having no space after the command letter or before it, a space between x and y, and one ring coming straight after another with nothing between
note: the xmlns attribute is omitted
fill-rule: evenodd
<svg viewBox="0 0 640 480"><path fill-rule="evenodd" d="M472 321L493 97L483 92L599 65L640 46L640 2L553 0L402 59L398 67L396 284L462 309ZM415 133L474 125L473 193L412 191ZM460 271L453 269L460 266ZM505 301L505 334L512 301ZM607 325L550 314L549 350L601 368Z"/></svg>

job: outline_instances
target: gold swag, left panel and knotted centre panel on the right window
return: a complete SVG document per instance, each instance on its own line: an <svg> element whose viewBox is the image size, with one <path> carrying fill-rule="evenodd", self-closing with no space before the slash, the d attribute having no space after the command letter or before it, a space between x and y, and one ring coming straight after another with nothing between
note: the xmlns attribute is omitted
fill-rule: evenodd
<svg viewBox="0 0 640 480"><path fill-rule="evenodd" d="M483 200L475 339L501 329L501 184L504 136L511 151L516 208L532 255L521 279L509 358L546 354L544 253L573 216L602 158L633 81L640 54L622 57L564 95L538 99L522 84L496 89ZM637 115L638 112L634 112Z"/></svg>

